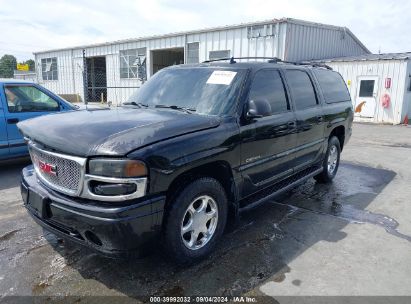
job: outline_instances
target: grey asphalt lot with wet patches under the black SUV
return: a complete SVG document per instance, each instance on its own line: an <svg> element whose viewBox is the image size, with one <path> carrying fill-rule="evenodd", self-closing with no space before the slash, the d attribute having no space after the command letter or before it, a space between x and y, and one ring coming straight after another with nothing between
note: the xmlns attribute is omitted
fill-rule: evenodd
<svg viewBox="0 0 411 304"><path fill-rule="evenodd" d="M355 124L332 184L310 180L243 214L189 268L160 252L111 260L43 234L22 206L27 163L0 167L2 296L411 296L410 127Z"/></svg>

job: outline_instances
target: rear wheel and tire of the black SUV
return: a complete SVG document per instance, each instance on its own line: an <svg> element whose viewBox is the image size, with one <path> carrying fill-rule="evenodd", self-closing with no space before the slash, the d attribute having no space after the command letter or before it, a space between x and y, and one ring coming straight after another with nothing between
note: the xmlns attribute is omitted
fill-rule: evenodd
<svg viewBox="0 0 411 304"><path fill-rule="evenodd" d="M319 183L330 183L337 174L340 165L341 147L337 137L332 136L328 140L327 152L322 164L323 171L314 176Z"/></svg>

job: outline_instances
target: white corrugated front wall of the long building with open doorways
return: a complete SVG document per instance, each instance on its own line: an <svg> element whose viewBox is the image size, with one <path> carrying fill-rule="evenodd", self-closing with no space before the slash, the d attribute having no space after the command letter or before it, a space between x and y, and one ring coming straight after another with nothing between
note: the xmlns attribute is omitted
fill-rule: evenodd
<svg viewBox="0 0 411 304"><path fill-rule="evenodd" d="M198 34L177 35L165 38L140 40L128 43L118 43L98 47L85 48L86 57L105 56L107 71L107 100L120 104L140 87L137 79L120 78L120 50L147 49L146 65L148 78L152 75L152 51L161 49L184 48L187 43L199 42L199 61L209 59L209 52L230 50L230 56L284 56L285 23L275 24L275 36L247 38L247 27L204 32ZM57 94L79 94L84 100L83 90L83 59L82 50L48 52L36 54L38 81L41 85ZM41 59L57 57L58 80L43 80L41 76ZM110 88L115 87L115 88ZM122 88L120 88L122 87Z"/></svg>

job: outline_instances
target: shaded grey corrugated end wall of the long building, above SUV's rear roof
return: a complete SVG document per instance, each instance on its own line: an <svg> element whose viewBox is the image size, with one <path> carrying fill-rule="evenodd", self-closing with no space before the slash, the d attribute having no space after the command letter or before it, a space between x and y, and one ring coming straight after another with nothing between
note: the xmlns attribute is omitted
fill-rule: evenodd
<svg viewBox="0 0 411 304"><path fill-rule="evenodd" d="M367 53L342 28L299 23L288 23L287 26L286 60L315 60Z"/></svg>

